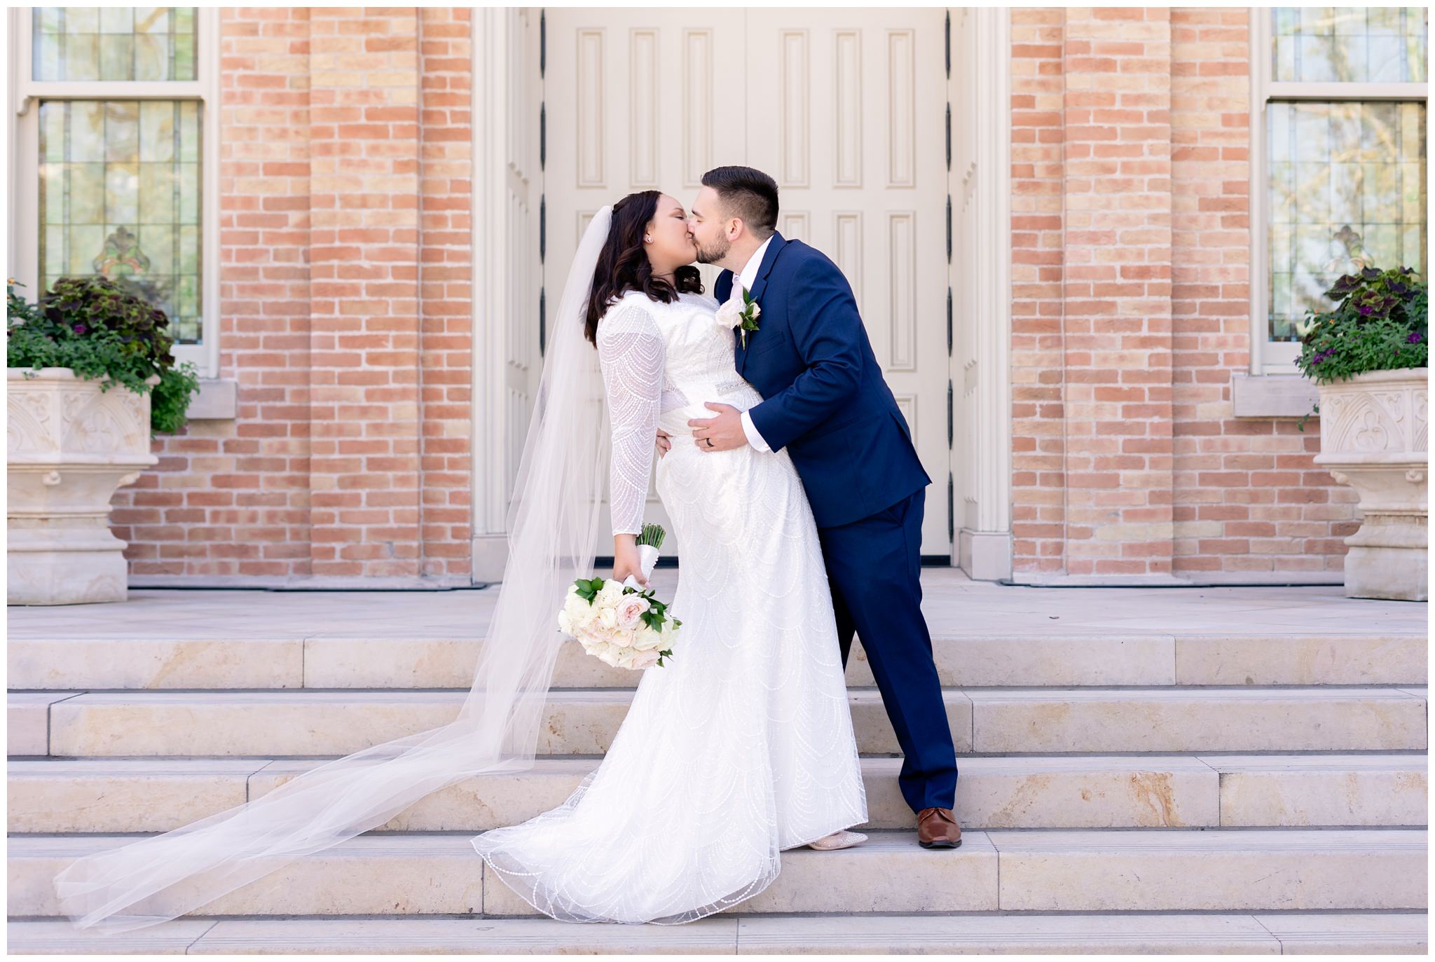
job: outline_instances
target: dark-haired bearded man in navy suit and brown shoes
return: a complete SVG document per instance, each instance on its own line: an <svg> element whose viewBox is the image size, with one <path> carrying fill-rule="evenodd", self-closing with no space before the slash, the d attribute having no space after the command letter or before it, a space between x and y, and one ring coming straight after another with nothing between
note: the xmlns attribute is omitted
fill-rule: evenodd
<svg viewBox="0 0 1435 962"><path fill-rule="evenodd" d="M788 449L817 520L842 665L855 632L905 755L898 785L917 814L917 840L954 849L956 751L918 580L931 478L842 271L775 230L776 181L751 167L719 167L702 182L687 230L697 260L726 268L719 303L736 277L761 307L746 345L736 332L733 339L738 373L765 401L742 412L709 402L716 416L687 422L695 444L709 452ZM659 447L670 445L660 432Z"/></svg>

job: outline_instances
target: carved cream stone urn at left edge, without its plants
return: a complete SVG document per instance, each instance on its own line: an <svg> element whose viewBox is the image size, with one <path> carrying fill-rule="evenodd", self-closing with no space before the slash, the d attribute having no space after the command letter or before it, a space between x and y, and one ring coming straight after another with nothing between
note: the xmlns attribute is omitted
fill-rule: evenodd
<svg viewBox="0 0 1435 962"><path fill-rule="evenodd" d="M149 395L100 391L69 368L7 372L9 603L123 602L125 541L109 530L109 500L159 461Z"/></svg>

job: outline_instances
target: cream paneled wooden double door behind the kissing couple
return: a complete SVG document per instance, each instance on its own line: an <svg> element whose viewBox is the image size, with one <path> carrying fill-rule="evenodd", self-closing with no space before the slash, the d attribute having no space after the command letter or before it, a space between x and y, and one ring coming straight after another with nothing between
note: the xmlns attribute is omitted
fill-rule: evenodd
<svg viewBox="0 0 1435 962"><path fill-rule="evenodd" d="M950 556L944 11L550 7L545 16L550 309L604 204L656 188L692 207L703 172L723 164L772 174L778 230L822 250L852 284L933 480L921 551ZM718 271L703 274L710 291ZM650 498L647 520L666 521Z"/></svg>

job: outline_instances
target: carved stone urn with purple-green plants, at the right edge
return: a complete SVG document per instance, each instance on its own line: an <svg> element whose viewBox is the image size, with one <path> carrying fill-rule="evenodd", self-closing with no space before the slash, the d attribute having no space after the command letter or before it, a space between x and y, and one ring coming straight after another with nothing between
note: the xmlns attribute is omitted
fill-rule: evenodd
<svg viewBox="0 0 1435 962"><path fill-rule="evenodd" d="M1345 593L1424 602L1428 289L1409 267L1366 267L1337 280L1326 296L1335 309L1306 312L1297 326L1296 363L1320 392L1314 461L1356 490L1365 515L1345 540Z"/></svg>

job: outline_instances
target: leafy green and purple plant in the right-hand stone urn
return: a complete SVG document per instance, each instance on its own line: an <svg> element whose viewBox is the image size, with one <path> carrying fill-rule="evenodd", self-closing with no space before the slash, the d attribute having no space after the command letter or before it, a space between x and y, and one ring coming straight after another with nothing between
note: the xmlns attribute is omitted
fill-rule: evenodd
<svg viewBox="0 0 1435 962"><path fill-rule="evenodd" d="M1411 267L1366 267L1332 284L1327 313L1306 312L1297 322L1300 373L1330 383L1368 370L1424 368L1429 360L1429 289ZM1300 419L1319 414L1314 405Z"/></svg>

